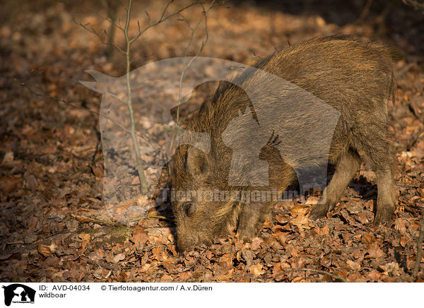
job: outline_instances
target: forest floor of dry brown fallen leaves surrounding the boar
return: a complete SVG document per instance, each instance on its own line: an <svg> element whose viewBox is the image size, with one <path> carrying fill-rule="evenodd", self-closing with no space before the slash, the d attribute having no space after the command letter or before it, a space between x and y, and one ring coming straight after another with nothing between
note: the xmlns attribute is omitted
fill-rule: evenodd
<svg viewBox="0 0 424 308"><path fill-rule="evenodd" d="M131 34L136 34L137 19L146 25L145 11L155 20L166 4L144 2L134 6ZM333 33L393 47L399 55L396 102L389 106L396 146L394 217L372 224L375 174L362 166L327 218L310 220L313 200L278 203L276 220L267 221L252 241L228 237L185 254L177 251L169 204L145 208L142 218L122 223L109 215L110 204L102 202L104 160L96 114L101 96L77 81L90 79L87 69L110 76L125 73L124 57L116 53L108 60L107 47L78 25L89 24L102 33L108 24L96 14L105 15L104 9L93 4L84 8L79 2L5 4L0 13L0 280L423 281L424 259L418 278L411 275L424 210L423 11L399 0L389 2L387 9L372 6L358 19L363 7L347 2L352 7L332 7L327 1L317 7L280 7L267 1L217 6L208 12L208 42L201 55L252 63L289 42ZM183 3L177 1L169 10ZM182 14L193 26L201 11L196 7ZM124 16L122 10L119 16ZM134 44L133 69L184 55L190 30L178 19L140 37ZM204 37L204 30L196 32L189 55L196 54ZM122 37L116 42L123 46ZM66 105L62 97L82 109ZM136 186L134 172L128 177ZM151 204L137 202L118 201L112 210Z"/></svg>

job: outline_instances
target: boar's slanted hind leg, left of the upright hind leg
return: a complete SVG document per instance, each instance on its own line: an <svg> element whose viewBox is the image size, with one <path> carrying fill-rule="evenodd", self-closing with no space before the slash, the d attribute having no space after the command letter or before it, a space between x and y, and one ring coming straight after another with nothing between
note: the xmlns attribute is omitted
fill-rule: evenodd
<svg viewBox="0 0 424 308"><path fill-rule="evenodd" d="M310 217L312 219L322 218L328 211L331 211L343 192L346 190L349 182L355 176L360 167L360 158L354 150L341 156L336 161L336 171L326 189L322 194L317 205L312 208Z"/></svg>

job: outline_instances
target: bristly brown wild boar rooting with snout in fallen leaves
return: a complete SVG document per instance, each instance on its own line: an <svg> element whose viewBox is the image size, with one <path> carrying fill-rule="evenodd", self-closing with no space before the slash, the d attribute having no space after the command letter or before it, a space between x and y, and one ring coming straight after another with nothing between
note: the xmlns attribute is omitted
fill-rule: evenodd
<svg viewBox="0 0 424 308"><path fill-rule="evenodd" d="M389 220L396 208L394 155L387 112L390 97L394 100L396 78L389 49L351 35L332 35L291 45L253 66L297 85L340 112L328 156L335 172L322 199L312 208L311 217L322 218L334 208L364 160L377 178L375 223ZM252 86L255 76L248 70L234 80ZM249 97L242 88L221 82L216 93L204 101L197 117L188 124L189 130L210 134L211 150L204 153L189 145L177 148L170 174L176 191L237 189L237 185L229 184L235 153L226 146L223 134L232 121L240 117L240 110L257 118L254 110L249 109ZM261 102L266 102L266 95L261 97ZM283 112L281 110L281 114ZM269 116L278 120L278 114L274 110ZM300 121L307 122L307 119ZM241 129L237 131L237 138L249 138L251 134L249 129ZM269 183L249 189L284 190L295 182L295 166L284 161L276 150L278 144L288 142L278 134L271 135L259 153L259 158L269 164ZM309 163L316 162L302 162L305 167ZM238 175L241 182L255 177L248 167L240 169ZM247 185L243 182L240 186ZM232 230L237 230L241 237L254 237L264 220L270 217L273 204L260 200L243 203L233 199L205 199L199 194L192 194L185 201L175 200L172 208L178 247L185 250L196 244L209 244L214 237L228 235Z"/></svg>

